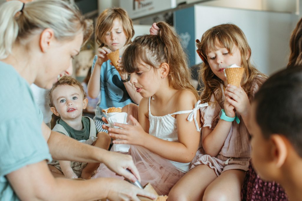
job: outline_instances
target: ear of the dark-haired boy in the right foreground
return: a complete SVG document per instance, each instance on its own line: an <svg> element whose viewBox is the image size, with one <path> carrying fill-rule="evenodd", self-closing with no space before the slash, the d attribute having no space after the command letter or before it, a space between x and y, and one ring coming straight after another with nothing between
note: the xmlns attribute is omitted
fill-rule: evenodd
<svg viewBox="0 0 302 201"><path fill-rule="evenodd" d="M271 150L273 162L277 168L281 168L288 156L286 138L279 134L272 134L270 140L273 145Z"/></svg>

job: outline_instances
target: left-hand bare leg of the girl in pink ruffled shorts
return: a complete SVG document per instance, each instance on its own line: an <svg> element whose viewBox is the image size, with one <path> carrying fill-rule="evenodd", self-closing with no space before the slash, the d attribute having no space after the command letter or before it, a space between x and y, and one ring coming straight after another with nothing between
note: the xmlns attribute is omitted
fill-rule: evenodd
<svg viewBox="0 0 302 201"><path fill-rule="evenodd" d="M217 178L215 171L207 165L198 165L185 174L171 189L169 201L201 200L204 190Z"/></svg>

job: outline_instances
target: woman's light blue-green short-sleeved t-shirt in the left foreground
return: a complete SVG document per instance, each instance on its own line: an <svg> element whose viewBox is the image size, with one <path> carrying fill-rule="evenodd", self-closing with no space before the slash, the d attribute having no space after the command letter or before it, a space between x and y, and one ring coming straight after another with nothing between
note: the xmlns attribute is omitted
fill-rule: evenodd
<svg viewBox="0 0 302 201"><path fill-rule="evenodd" d="M19 199L5 175L52 158L42 135L43 114L29 84L1 61L0 72L0 200L11 201Z"/></svg>

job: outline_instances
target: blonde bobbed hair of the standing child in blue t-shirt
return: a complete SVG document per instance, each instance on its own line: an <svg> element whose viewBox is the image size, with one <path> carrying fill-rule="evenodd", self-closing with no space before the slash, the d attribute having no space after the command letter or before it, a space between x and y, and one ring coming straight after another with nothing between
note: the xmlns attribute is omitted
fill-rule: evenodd
<svg viewBox="0 0 302 201"><path fill-rule="evenodd" d="M112 29L115 19L119 19L122 23L127 38L125 45L131 42L131 38L134 36L134 28L127 11L123 8L107 8L98 16L95 27L95 38L100 47L105 46L106 32Z"/></svg>

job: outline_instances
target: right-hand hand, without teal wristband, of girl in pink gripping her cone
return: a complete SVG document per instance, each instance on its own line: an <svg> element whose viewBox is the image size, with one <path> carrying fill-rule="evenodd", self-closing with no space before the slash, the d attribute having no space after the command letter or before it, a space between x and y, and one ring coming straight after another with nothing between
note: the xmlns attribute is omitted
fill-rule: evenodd
<svg viewBox="0 0 302 201"><path fill-rule="evenodd" d="M225 91L226 101L234 106L240 115L246 115L250 107L249 98L241 86L228 84Z"/></svg>

